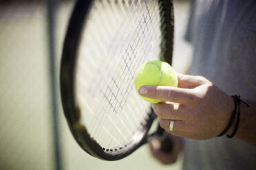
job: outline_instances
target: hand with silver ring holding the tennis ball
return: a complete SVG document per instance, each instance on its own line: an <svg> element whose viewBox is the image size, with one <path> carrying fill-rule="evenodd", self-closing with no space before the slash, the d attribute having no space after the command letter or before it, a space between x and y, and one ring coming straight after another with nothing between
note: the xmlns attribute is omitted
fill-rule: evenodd
<svg viewBox="0 0 256 170"><path fill-rule="evenodd" d="M208 139L219 135L235 107L231 96L201 76L178 75L178 88L141 86L139 93L163 100L152 105L160 126L186 138ZM169 130L171 120L174 120L173 131Z"/></svg>

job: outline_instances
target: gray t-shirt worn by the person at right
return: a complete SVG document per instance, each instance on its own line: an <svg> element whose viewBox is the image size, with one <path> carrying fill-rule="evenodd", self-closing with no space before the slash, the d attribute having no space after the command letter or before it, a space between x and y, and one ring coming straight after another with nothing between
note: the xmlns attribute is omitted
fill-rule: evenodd
<svg viewBox="0 0 256 170"><path fill-rule="evenodd" d="M195 0L191 6L190 74L256 101L256 1ZM183 169L256 169L256 147L235 137L186 139Z"/></svg>

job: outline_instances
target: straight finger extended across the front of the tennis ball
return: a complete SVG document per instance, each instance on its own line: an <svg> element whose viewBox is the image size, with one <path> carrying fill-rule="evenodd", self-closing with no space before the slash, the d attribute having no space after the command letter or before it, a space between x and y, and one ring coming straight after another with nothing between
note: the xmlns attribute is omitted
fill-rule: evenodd
<svg viewBox="0 0 256 170"><path fill-rule="evenodd" d="M171 86L141 86L138 92L144 97L172 101L179 104L191 104L196 99L193 89Z"/></svg>

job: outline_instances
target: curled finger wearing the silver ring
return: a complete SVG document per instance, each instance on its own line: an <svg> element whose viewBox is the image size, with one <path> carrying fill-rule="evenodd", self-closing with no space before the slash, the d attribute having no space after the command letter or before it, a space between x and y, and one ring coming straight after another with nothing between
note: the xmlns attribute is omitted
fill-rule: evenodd
<svg viewBox="0 0 256 170"><path fill-rule="evenodd" d="M161 119L161 118L158 117L158 121L159 121L160 126L164 130L169 130L171 120ZM184 130L186 130L186 126L184 125L184 121L175 120L174 124L173 124L173 131L171 131L171 132L184 131ZM169 132L170 132L170 130L169 130Z"/></svg>

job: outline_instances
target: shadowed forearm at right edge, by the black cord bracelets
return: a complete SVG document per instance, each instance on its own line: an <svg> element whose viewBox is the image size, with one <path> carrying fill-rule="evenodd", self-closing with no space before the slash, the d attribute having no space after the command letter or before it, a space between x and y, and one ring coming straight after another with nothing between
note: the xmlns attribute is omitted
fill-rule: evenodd
<svg viewBox="0 0 256 170"><path fill-rule="evenodd" d="M256 145L256 102L247 101L244 99L243 101L245 101L249 107L242 102L240 103L239 127L235 137L240 138L252 145ZM233 132L236 122L237 117L227 134L231 134Z"/></svg>

